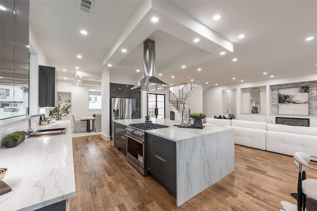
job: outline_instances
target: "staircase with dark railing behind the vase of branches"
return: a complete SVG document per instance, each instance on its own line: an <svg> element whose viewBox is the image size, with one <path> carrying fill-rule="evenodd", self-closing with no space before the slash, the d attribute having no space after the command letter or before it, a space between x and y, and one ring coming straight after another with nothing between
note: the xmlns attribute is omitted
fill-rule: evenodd
<svg viewBox="0 0 317 211"><path fill-rule="evenodd" d="M169 103L180 114L180 105L188 97L189 93L196 87L196 84L186 84L179 90L179 98L171 91L169 91ZM190 122L190 109L188 109Z"/></svg>

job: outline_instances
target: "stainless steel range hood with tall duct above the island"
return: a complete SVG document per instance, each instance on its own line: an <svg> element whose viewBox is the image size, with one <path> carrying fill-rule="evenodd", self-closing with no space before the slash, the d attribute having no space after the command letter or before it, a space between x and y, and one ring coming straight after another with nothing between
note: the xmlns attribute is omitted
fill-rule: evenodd
<svg viewBox="0 0 317 211"><path fill-rule="evenodd" d="M141 91L155 91L169 87L168 84L165 84L155 76L155 41L147 39L143 43L143 48L143 79L131 89Z"/></svg>

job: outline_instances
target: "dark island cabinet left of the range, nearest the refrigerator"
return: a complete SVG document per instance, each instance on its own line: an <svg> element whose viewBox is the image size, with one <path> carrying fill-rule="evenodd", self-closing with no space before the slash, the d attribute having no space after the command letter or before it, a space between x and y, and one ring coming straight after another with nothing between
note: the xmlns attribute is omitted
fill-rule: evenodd
<svg viewBox="0 0 317 211"><path fill-rule="evenodd" d="M127 140L125 137L126 126L113 122L113 143L114 147L121 151L123 154L127 154Z"/></svg>

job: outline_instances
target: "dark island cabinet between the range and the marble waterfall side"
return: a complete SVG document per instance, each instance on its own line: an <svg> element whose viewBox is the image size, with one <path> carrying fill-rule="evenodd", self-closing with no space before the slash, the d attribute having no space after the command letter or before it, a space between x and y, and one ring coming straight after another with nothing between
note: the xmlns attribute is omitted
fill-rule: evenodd
<svg viewBox="0 0 317 211"><path fill-rule="evenodd" d="M176 142L147 133L148 173L176 198Z"/></svg>

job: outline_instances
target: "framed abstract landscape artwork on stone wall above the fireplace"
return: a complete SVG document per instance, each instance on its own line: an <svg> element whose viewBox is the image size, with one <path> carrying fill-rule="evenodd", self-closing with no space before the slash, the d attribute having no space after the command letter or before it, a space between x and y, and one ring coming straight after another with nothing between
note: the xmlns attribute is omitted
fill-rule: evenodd
<svg viewBox="0 0 317 211"><path fill-rule="evenodd" d="M309 86L278 89L278 114L309 115Z"/></svg>

